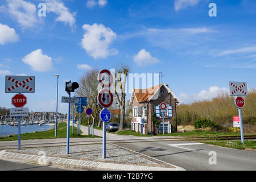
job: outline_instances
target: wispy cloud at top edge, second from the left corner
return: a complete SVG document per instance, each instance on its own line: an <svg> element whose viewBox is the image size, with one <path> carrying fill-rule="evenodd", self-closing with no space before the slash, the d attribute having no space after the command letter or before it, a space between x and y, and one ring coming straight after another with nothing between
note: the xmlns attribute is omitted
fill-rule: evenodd
<svg viewBox="0 0 256 182"><path fill-rule="evenodd" d="M56 13L58 15L55 19L57 22L68 23L72 28L75 25L76 13L70 13L61 0L46 0L46 11Z"/></svg>

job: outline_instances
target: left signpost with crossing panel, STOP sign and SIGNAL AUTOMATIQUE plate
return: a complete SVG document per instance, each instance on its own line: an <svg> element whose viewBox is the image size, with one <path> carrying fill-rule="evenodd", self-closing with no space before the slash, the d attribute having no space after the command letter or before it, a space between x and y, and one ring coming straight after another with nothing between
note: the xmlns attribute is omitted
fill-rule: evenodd
<svg viewBox="0 0 256 182"><path fill-rule="evenodd" d="M27 97L21 93L35 93L35 76L6 76L5 93L18 93L11 98L15 108L10 109L11 117L18 117L18 150L20 150L20 117L28 116Z"/></svg>

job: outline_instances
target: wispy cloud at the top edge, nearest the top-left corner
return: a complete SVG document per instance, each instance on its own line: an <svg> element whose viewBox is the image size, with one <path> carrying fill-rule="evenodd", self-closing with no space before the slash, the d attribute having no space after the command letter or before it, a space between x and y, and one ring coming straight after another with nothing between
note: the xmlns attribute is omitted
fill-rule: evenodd
<svg viewBox="0 0 256 182"><path fill-rule="evenodd" d="M34 27L38 22L36 6L23 0L6 0L7 11L24 28Z"/></svg>

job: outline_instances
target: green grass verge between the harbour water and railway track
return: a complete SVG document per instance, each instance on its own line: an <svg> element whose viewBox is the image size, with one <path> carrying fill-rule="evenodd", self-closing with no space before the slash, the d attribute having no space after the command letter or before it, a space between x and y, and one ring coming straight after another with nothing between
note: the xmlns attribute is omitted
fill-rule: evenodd
<svg viewBox="0 0 256 182"><path fill-rule="evenodd" d="M72 134L72 126L69 127L69 137L70 138L90 138L92 135L79 135L76 134L77 129L74 127L74 134ZM81 132L82 133L82 132ZM98 138L98 136L94 135ZM67 138L67 123L59 123L57 128L57 137L55 137L55 129L48 131L36 131L34 133L24 133L20 135L20 139L52 139L52 138ZM99 137L101 138L101 137ZM0 141L11 141L18 140L18 135L13 135L11 137L1 137Z"/></svg>

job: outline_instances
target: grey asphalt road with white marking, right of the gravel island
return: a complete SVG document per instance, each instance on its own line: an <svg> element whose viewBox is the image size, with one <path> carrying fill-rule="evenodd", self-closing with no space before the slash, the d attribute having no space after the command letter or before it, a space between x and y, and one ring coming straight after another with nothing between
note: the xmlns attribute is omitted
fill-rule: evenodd
<svg viewBox="0 0 256 182"><path fill-rule="evenodd" d="M184 140L123 143L118 146L191 171L256 170L255 151L236 150Z"/></svg>

